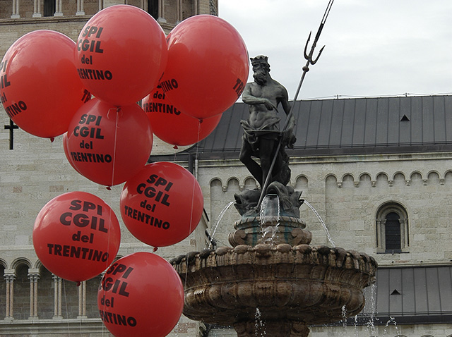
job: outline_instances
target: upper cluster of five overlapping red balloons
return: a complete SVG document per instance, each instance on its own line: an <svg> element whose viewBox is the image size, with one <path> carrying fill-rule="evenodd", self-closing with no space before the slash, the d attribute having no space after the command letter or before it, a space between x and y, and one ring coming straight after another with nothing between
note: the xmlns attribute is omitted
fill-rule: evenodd
<svg viewBox="0 0 452 337"><path fill-rule="evenodd" d="M115 5L76 42L52 30L20 37L0 63L0 97L26 132L66 133L73 168L111 186L145 166L153 134L174 147L207 137L248 73L244 41L225 20L192 16L165 37L147 12Z"/></svg>

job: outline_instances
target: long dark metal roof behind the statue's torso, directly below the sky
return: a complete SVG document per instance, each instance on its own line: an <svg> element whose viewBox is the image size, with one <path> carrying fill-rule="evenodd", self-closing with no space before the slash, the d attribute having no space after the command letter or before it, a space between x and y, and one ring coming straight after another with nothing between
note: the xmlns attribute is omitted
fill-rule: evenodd
<svg viewBox="0 0 452 337"><path fill-rule="evenodd" d="M307 100L292 109L297 142L290 156L452 151L450 95ZM239 121L248 114L246 104L232 105L213 133L186 153L237 158ZM279 114L284 125L282 109Z"/></svg>

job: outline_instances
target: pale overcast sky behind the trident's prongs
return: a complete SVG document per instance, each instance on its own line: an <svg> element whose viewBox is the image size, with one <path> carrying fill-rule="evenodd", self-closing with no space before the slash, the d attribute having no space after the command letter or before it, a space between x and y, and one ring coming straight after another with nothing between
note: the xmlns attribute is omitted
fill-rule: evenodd
<svg viewBox="0 0 452 337"><path fill-rule="evenodd" d="M327 5L219 0L218 14L242 35L249 56L268 56L270 75L293 99L304 44L311 30L313 41ZM335 0L314 55L325 50L298 99L451 93L451 13L445 0Z"/></svg>

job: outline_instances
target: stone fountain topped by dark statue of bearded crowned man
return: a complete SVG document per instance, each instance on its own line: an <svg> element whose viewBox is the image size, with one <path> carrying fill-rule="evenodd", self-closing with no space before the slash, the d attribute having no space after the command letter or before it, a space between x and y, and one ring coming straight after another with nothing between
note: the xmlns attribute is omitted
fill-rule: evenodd
<svg viewBox="0 0 452 337"><path fill-rule="evenodd" d="M262 166L262 172L256 172L250 164L251 154L258 155L250 145L250 126L258 128L251 125L256 119L251 117L263 113L274 118L270 111L279 102L287 114L290 110L284 97L278 97L282 86L270 78L266 61L266 56L251 59L255 74L261 65L268 68L266 82L258 84L255 76L256 82L248 83L242 95L250 104L250 119L242 121L246 136L240 159L261 186L272 170ZM256 85L268 90L256 90ZM290 132L284 144L290 147L295 124L287 125ZM301 192L287 186L290 170L284 146L276 151L260 149L261 165L267 162L264 153L280 151L275 155L279 169L263 188L263 200L261 190L235 195L234 205L242 217L230 233L232 247L190 252L171 263L184 283L186 317L233 326L239 337L306 337L310 325L337 322L363 309L363 289L375 282L377 264L373 257L354 250L310 245L311 232L299 218Z"/></svg>

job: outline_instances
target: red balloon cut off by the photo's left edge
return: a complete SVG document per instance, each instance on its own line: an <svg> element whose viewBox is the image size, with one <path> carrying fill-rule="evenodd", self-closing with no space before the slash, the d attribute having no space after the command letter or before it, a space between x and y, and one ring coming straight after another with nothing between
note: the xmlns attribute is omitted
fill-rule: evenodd
<svg viewBox="0 0 452 337"><path fill-rule="evenodd" d="M0 97L6 114L27 133L62 135L90 99L78 78L76 43L52 30L35 30L14 42L0 63Z"/></svg>

